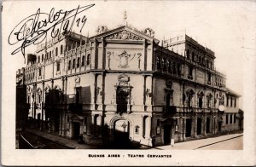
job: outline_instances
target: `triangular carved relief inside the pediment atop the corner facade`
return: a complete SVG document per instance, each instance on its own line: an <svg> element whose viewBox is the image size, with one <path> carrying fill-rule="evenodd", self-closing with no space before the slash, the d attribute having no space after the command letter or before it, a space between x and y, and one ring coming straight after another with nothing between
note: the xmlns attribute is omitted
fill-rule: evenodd
<svg viewBox="0 0 256 167"><path fill-rule="evenodd" d="M138 37L137 35L131 33L131 32L127 32L127 31L122 31L122 32L117 32L115 34L112 34L108 37L106 37L107 39L120 39L120 40L143 40L143 37Z"/></svg>

